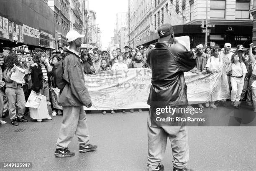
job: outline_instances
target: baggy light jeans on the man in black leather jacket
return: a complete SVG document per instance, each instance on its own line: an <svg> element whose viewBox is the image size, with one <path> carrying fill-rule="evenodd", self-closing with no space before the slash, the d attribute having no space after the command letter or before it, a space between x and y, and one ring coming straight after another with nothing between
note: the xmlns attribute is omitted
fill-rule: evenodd
<svg viewBox="0 0 256 171"><path fill-rule="evenodd" d="M188 131L185 126L151 127L151 109L148 112L148 171L153 171L164 159L167 137L171 141L173 166L186 168L189 160Z"/></svg>

